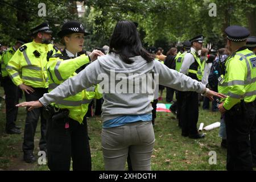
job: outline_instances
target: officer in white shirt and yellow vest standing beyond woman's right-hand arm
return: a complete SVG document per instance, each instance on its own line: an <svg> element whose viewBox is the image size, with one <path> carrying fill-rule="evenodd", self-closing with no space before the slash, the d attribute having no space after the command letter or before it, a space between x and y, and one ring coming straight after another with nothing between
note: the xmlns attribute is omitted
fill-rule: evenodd
<svg viewBox="0 0 256 182"><path fill-rule="evenodd" d="M188 75L194 80L200 80L201 60L198 51L203 47L203 35L198 35L189 40L191 49L185 56L180 68L180 72ZM181 135L192 139L204 138L204 134L197 131L199 117L198 94L196 92L183 92L183 103L181 106Z"/></svg>

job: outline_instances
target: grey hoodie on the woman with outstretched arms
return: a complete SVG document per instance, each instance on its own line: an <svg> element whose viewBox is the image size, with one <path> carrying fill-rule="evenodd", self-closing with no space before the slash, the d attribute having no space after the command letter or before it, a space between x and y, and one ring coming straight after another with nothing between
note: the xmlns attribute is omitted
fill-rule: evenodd
<svg viewBox="0 0 256 182"><path fill-rule="evenodd" d="M129 82L129 80L138 77L138 75L147 74L152 76L152 73L154 73L154 83L152 85L158 84L156 81L158 80L157 77L159 77L160 85L168 86L176 90L195 91L197 93L203 93L205 90L205 86L201 82L192 80L192 78L185 76L183 73L169 69L166 65L157 60L147 63L141 56L131 57L130 59L133 60L134 63L126 64L115 53L100 56L78 75L64 81L63 84L57 86L57 88L53 89L50 93L44 94L39 101L43 105L49 105L51 102L56 102L65 97L75 95L94 84L100 83L102 85L102 82L105 83L104 90L108 90L106 89L108 88L106 84L108 82L110 90L109 93L104 92L104 104L102 105L102 119L103 121L107 121L122 115L151 114L152 106L150 102L154 97L154 92L144 93L142 92L143 86L141 86L139 87L139 93L134 93L135 81ZM119 80L115 79L114 82L110 82L110 75L113 73L120 75ZM134 73L138 75L134 76ZM104 78L102 79L102 77ZM105 79L106 77L109 79ZM122 85L122 87L120 87L120 80L123 81L126 78L128 80L127 82L130 83L127 85L127 90L131 88L133 93L117 93L115 89L123 88L124 86ZM145 81L146 80L141 80L139 84L143 85Z"/></svg>

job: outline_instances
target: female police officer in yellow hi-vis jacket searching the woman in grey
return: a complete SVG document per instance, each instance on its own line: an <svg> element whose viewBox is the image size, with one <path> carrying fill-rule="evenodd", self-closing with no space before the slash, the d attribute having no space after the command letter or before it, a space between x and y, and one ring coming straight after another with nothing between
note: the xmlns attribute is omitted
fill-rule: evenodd
<svg viewBox="0 0 256 182"><path fill-rule="evenodd" d="M77 29L77 27L80 27ZM88 35L80 22L70 21L63 25L57 34L65 44L61 53L48 53L46 65L51 91L69 77L81 72L90 60L104 55L94 50L89 56L82 51L84 36ZM97 55L97 56L96 56ZM51 171L68 171L71 165L74 171L90 171L89 137L86 121L88 104L93 98L101 97L96 86L81 90L75 96L58 100L47 107L47 160ZM46 110L46 107L44 108Z"/></svg>

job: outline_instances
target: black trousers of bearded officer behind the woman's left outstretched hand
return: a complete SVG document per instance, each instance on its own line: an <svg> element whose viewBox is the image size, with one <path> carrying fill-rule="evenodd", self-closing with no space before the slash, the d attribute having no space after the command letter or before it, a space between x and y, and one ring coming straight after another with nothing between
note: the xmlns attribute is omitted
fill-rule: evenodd
<svg viewBox="0 0 256 182"><path fill-rule="evenodd" d="M44 93L48 93L46 88L33 88L35 92L27 94L25 92L26 101L37 101L43 97ZM27 108L28 109L28 108ZM38 125L39 117L41 118L41 138L39 141L39 148L41 151L46 151L46 119L42 114L43 107L27 111L27 118L24 130L24 142L22 150L24 153L32 152L34 150L34 136L36 126Z"/></svg>

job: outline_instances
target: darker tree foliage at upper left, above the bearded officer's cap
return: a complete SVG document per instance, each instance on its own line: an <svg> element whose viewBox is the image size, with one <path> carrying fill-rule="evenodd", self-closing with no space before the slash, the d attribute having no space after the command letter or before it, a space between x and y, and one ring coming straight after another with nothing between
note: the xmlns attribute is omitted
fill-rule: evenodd
<svg viewBox="0 0 256 182"><path fill-rule="evenodd" d="M39 3L45 3L46 16L38 16ZM2 0L0 1L0 42L11 45L16 38L30 41L30 30L38 24L48 22L53 30L53 37L66 20L77 19L72 12L72 1L57 0Z"/></svg>

